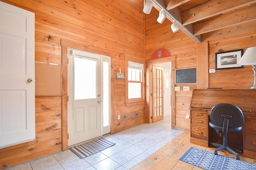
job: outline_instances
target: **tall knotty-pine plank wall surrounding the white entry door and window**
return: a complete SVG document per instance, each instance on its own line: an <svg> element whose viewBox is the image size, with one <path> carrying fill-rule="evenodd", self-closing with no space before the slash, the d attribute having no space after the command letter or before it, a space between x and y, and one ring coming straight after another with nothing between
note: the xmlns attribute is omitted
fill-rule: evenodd
<svg viewBox="0 0 256 170"><path fill-rule="evenodd" d="M59 152L63 144L67 148L67 47L111 57L112 133L144 123L145 105L126 106L125 80L116 79L119 67L126 70L125 55L144 59L143 0L1 1L35 13L35 61L59 64L54 77L62 88L53 94L36 84L36 140L0 149L0 169ZM48 76L36 75L38 82L47 81Z"/></svg>

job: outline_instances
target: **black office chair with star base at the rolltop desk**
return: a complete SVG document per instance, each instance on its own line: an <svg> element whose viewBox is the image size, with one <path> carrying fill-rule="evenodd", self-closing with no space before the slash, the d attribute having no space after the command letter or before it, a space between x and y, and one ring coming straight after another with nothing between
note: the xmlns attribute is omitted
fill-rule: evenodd
<svg viewBox="0 0 256 170"><path fill-rule="evenodd" d="M210 119L210 127L214 128L220 136L220 131L223 133L222 145L218 143L210 143L210 147L212 147L212 145L219 147L214 150L214 154L217 155L217 151L226 149L235 154L237 160L240 160L239 154L228 147L228 132L242 131L244 115L241 109L232 104L217 104L216 106L212 107Z"/></svg>

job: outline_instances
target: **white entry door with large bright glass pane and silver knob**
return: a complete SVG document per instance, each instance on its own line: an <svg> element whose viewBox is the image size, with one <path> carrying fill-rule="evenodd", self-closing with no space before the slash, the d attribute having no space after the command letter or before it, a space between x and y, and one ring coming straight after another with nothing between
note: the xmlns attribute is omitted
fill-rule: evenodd
<svg viewBox="0 0 256 170"><path fill-rule="evenodd" d="M68 58L68 145L101 136L100 55L70 49Z"/></svg>

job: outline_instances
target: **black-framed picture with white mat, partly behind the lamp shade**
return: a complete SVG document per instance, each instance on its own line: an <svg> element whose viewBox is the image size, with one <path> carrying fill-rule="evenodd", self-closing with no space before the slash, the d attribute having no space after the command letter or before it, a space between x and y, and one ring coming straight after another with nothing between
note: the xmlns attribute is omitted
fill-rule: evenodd
<svg viewBox="0 0 256 170"><path fill-rule="evenodd" d="M243 66L236 64L243 53L243 49L215 53L215 70L243 68Z"/></svg>

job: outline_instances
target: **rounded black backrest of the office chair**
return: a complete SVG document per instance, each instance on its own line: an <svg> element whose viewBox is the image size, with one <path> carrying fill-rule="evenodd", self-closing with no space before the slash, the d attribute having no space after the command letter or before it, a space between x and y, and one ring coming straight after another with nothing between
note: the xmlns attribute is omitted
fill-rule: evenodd
<svg viewBox="0 0 256 170"><path fill-rule="evenodd" d="M241 127L244 124L243 112L237 106L232 104L217 104L216 106L212 107L210 113L212 124L222 127L224 120L224 117L221 116L222 114L232 116L232 118L229 118L229 128Z"/></svg>

